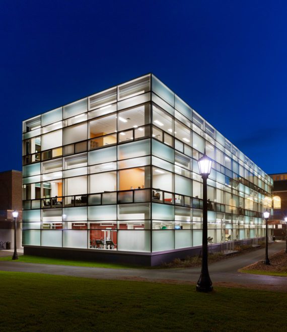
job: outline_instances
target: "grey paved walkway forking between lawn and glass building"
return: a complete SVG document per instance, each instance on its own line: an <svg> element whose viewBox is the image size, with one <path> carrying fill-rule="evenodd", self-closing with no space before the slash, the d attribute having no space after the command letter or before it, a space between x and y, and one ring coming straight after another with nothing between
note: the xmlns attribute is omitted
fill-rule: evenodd
<svg viewBox="0 0 287 332"><path fill-rule="evenodd" d="M282 250L284 242L275 242L269 246L269 256ZM238 273L237 270L258 262L264 258L265 249L255 250L238 257L213 263L209 266L210 278L216 284L250 285L251 287L280 289L287 291L285 277L273 277ZM10 253L11 255L11 253ZM272 264L272 260L271 260ZM22 262L1 262L0 270L33 272L42 274L86 277L95 279L146 280L164 282L197 282L200 268L185 269L104 269L75 266L32 264Z"/></svg>

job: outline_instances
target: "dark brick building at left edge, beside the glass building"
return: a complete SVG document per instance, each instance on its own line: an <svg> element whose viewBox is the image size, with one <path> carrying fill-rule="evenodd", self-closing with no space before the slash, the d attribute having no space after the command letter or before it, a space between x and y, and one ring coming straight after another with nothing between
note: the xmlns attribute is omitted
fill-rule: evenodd
<svg viewBox="0 0 287 332"><path fill-rule="evenodd" d="M7 171L0 173L0 248L11 242L14 248L14 224L12 212L19 212L17 221L17 247L22 245L22 172ZM2 243L1 243L2 242Z"/></svg>

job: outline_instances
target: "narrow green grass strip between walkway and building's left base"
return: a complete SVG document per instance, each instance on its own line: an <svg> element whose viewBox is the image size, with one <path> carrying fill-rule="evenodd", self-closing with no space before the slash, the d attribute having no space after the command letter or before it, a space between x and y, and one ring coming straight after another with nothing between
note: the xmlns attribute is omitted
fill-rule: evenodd
<svg viewBox="0 0 287 332"><path fill-rule="evenodd" d="M124 265L116 263L104 263L104 262L85 262L85 261L74 261L74 260L64 260L59 258L48 258L48 257L38 257L23 255L19 256L18 260L13 261L12 256L0 257L1 261L11 261L11 262L23 262L23 263L38 263L38 264L54 264L54 265L68 265L68 266L84 266L89 268L107 268L107 269L132 269L139 268L133 265Z"/></svg>

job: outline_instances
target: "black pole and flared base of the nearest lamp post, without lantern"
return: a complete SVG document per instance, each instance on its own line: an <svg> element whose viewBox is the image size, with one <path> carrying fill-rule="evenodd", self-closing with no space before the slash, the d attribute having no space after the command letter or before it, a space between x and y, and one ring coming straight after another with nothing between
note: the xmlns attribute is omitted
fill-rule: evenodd
<svg viewBox="0 0 287 332"><path fill-rule="evenodd" d="M202 262L201 273L197 281L196 290L198 292L210 292L213 289L212 282L208 273L207 261L207 178L208 175L202 175L203 180L203 215L202 215Z"/></svg>

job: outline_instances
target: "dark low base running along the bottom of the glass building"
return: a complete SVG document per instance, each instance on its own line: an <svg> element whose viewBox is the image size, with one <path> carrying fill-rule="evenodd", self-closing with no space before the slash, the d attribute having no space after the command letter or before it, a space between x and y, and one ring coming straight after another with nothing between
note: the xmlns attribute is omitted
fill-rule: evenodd
<svg viewBox="0 0 287 332"><path fill-rule="evenodd" d="M264 241L264 237L258 238ZM222 252L230 249L231 242L208 245L209 253ZM254 239L234 241L234 246L253 244ZM172 262L174 259L184 259L187 256L201 255L202 247L194 246L158 253L121 252L100 249L58 248L47 246L24 245L24 255L61 258L79 261L94 261L106 263L132 264L140 266L158 266Z"/></svg>

